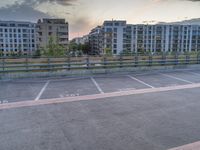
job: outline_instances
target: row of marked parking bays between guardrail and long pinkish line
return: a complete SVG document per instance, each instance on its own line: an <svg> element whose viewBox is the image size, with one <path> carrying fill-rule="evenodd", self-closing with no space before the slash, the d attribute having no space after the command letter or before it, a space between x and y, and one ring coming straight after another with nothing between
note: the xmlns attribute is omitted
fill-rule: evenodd
<svg viewBox="0 0 200 150"><path fill-rule="evenodd" d="M75 97L200 83L200 71L173 71L76 78L0 81L0 101L6 103Z"/></svg>

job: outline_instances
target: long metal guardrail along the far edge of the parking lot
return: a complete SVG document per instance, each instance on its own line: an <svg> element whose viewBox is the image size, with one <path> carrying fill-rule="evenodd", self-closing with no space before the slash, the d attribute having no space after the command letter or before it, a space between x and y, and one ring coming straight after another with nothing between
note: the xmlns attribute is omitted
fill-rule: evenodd
<svg viewBox="0 0 200 150"><path fill-rule="evenodd" d="M0 74L200 64L200 55L0 58Z"/></svg>

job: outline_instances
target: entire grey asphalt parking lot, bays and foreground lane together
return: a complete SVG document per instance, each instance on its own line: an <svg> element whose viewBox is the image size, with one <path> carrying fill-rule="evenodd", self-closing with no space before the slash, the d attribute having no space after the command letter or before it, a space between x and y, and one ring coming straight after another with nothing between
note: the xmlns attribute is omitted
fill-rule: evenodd
<svg viewBox="0 0 200 150"><path fill-rule="evenodd" d="M0 149L164 150L198 142L199 91L200 70L0 81Z"/></svg>

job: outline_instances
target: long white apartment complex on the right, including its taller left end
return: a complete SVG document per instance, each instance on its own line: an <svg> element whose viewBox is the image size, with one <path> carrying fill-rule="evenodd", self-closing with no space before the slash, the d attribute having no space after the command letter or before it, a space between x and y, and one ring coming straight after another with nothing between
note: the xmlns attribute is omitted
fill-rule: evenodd
<svg viewBox="0 0 200 150"><path fill-rule="evenodd" d="M104 53L107 49L113 54L124 51L136 53L200 51L200 25L132 25L126 24L126 21L112 20L105 21L98 29L90 41L94 40L98 46L95 49ZM101 41L99 39L103 42L98 42Z"/></svg>

